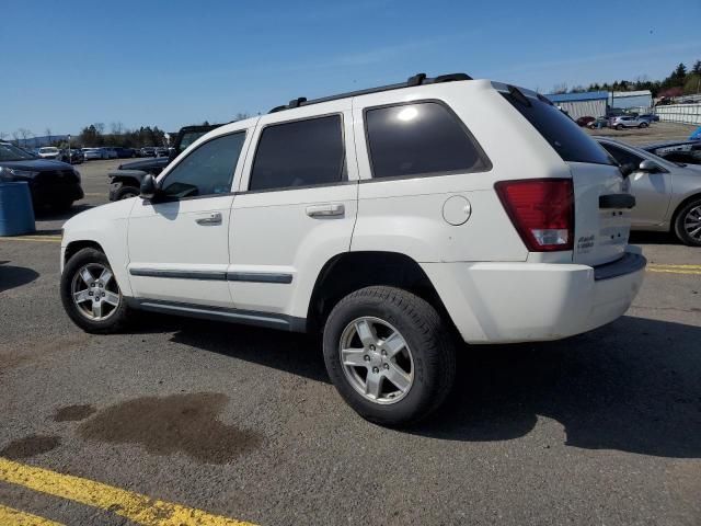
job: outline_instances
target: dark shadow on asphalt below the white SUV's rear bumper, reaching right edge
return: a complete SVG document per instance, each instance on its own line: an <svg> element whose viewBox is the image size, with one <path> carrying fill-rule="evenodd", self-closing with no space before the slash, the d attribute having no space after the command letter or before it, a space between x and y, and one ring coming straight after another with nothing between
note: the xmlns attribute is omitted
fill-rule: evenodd
<svg viewBox="0 0 701 526"><path fill-rule="evenodd" d="M451 398L416 434L504 441L538 415L566 445L673 458L701 457L701 328L623 317L561 342L473 346Z"/></svg>

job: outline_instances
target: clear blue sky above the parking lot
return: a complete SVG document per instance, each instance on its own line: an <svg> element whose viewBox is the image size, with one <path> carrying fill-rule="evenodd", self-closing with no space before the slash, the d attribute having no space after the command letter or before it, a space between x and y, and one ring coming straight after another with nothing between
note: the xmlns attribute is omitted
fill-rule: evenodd
<svg viewBox="0 0 701 526"><path fill-rule="evenodd" d="M541 92L701 59L701 0L7 1L0 133L230 121L464 71Z"/></svg>

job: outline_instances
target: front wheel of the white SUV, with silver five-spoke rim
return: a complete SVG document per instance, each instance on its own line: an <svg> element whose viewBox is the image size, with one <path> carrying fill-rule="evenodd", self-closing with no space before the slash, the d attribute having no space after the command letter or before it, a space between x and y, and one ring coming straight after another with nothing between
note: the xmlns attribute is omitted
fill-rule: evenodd
<svg viewBox="0 0 701 526"><path fill-rule="evenodd" d="M91 274L92 279L87 281L81 277L85 270ZM100 286L100 278L106 276L101 272L102 270L108 271L111 277ZM95 286L91 287L91 284ZM79 291L92 294L83 296L85 299L77 302L73 300L76 287L80 289ZM119 332L126 325L129 315L126 299L112 274L107 256L99 250L82 249L68 260L61 274L60 294L64 309L69 318L85 332L107 334ZM97 297L96 301L95 297ZM97 312L95 308L91 309L95 304L101 304L97 309L103 315L102 319L95 319L88 313L88 311L92 311L93 315Z"/></svg>

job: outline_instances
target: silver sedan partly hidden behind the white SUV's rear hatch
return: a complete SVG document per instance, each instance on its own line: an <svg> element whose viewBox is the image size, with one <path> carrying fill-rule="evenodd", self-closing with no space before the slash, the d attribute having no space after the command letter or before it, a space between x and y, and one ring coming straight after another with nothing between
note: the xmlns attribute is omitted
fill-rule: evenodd
<svg viewBox="0 0 701 526"><path fill-rule="evenodd" d="M671 162L642 148L597 137L621 165L635 196L633 230L670 231L682 243L701 247L701 167Z"/></svg>

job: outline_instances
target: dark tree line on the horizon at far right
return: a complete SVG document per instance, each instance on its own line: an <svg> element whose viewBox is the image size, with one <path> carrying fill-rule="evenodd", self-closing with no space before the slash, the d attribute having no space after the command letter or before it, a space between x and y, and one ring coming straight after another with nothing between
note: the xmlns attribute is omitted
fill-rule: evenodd
<svg viewBox="0 0 701 526"><path fill-rule="evenodd" d="M636 91L650 90L653 96L680 96L701 93L701 60L693 62L691 68L682 62L663 80L650 80L646 77L639 77L635 80L617 80L612 83L598 82L588 87L574 85L568 88L566 83L556 84L553 93L585 93L587 91Z"/></svg>

